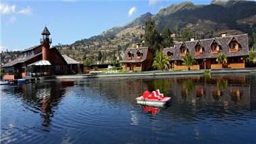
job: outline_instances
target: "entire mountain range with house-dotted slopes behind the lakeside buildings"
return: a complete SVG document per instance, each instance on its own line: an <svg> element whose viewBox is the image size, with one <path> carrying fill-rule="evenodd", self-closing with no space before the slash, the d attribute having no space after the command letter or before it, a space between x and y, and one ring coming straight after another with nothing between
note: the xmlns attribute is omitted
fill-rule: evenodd
<svg viewBox="0 0 256 144"><path fill-rule="evenodd" d="M173 4L161 9L156 15L145 13L123 27L113 27L100 35L77 40L70 45L57 46L62 54L84 62L113 62L117 56L123 56L128 47L141 42L143 26L148 17L156 22L158 31L169 27L178 35L174 40L180 41L181 31L187 29L199 38L212 38L222 32L228 34L256 32L255 1L217 1L210 5L194 5L191 2ZM249 44L252 40L249 38Z"/></svg>

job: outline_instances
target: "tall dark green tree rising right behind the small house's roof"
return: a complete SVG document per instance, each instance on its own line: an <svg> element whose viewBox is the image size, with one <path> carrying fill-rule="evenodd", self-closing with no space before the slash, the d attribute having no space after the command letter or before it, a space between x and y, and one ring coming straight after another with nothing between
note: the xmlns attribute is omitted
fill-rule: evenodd
<svg viewBox="0 0 256 144"><path fill-rule="evenodd" d="M160 44L162 42L162 38L160 33L158 33L156 29L155 22L149 17L146 21L145 34L143 35L143 39L145 40L145 45L149 46L153 52L160 50Z"/></svg>

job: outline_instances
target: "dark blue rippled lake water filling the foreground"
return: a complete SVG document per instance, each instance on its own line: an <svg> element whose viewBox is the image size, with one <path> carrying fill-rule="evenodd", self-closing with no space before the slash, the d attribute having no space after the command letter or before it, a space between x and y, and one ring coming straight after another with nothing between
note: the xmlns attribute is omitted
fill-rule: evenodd
<svg viewBox="0 0 256 144"><path fill-rule="evenodd" d="M136 104L160 88L165 108ZM256 75L1 86L1 143L256 143Z"/></svg>

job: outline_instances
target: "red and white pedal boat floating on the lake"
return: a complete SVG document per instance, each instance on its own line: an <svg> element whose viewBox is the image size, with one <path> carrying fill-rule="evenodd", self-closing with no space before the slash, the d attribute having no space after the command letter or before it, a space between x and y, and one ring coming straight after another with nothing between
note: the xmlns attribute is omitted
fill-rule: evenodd
<svg viewBox="0 0 256 144"><path fill-rule="evenodd" d="M160 93L160 90L153 92L143 92L142 96L136 98L137 104L149 105L149 106L164 106L171 100L170 97L165 97L164 94Z"/></svg>

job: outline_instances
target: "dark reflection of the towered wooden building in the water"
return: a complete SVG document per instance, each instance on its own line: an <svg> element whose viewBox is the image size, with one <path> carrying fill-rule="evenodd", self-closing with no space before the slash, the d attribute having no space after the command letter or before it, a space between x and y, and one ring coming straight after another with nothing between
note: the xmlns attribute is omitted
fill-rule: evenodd
<svg viewBox="0 0 256 144"><path fill-rule="evenodd" d="M65 90L57 82L22 85L22 94L24 94L26 104L32 106L34 112L40 110L40 116L43 119L42 125L45 127L49 127L51 124L51 117L54 115L53 109L59 104L64 92Z"/></svg>

